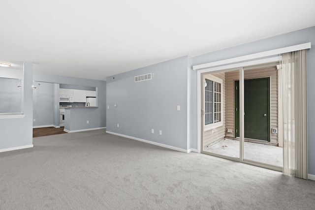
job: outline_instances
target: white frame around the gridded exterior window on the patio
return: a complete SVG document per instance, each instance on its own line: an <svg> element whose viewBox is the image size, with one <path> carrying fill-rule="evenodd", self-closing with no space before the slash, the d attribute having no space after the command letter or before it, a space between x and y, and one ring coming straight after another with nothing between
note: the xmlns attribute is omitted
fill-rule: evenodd
<svg viewBox="0 0 315 210"><path fill-rule="evenodd" d="M221 84L221 121L220 122L213 122L211 124L207 124L205 125L205 116L206 114L203 115L203 123L204 123L204 130L211 130L211 129L214 129L214 128L217 128L217 127L221 127L223 126L223 80L220 79L219 77L216 77L216 76L213 76L213 75L205 75L204 76L204 81L205 79L208 79L208 80L211 80L213 82L217 82L217 83L220 83ZM204 91L204 110L205 110L205 97L206 97L206 90L205 88L203 89ZM214 94L213 94L214 96ZM214 103L214 100L213 100L213 103ZM213 109L214 109L214 105L213 105ZM214 112L213 112L213 116L214 116Z"/></svg>

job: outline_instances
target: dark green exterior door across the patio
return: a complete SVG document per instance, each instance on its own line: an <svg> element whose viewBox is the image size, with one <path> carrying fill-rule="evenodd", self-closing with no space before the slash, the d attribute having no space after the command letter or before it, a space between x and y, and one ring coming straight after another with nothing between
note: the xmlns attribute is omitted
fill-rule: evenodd
<svg viewBox="0 0 315 210"><path fill-rule="evenodd" d="M244 137L270 141L269 78L244 81ZM235 135L239 137L239 81L235 81Z"/></svg>

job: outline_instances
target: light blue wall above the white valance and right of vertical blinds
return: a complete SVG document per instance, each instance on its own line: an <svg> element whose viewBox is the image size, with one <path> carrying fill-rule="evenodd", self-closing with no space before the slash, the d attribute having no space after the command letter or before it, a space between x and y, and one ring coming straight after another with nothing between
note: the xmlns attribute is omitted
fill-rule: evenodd
<svg viewBox="0 0 315 210"><path fill-rule="evenodd" d="M193 58L192 64L224 60L307 42L312 42L312 48L307 51L308 159L309 174L315 175L315 129L313 129L315 125L315 27L197 56ZM193 86L196 86L196 82Z"/></svg>

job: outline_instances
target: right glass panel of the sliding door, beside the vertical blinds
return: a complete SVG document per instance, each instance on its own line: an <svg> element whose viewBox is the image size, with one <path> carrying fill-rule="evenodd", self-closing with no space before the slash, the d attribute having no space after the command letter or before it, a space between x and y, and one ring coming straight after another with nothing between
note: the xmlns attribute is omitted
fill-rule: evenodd
<svg viewBox="0 0 315 210"><path fill-rule="evenodd" d="M277 67L245 69L244 160L283 166L279 110Z"/></svg>

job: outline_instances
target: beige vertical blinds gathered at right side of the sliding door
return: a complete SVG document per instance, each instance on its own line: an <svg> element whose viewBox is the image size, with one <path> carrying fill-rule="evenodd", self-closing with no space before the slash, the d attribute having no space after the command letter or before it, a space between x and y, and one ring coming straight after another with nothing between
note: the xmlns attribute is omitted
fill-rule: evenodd
<svg viewBox="0 0 315 210"><path fill-rule="evenodd" d="M306 50L282 54L284 174L308 179Z"/></svg>

